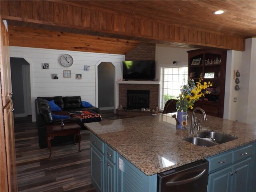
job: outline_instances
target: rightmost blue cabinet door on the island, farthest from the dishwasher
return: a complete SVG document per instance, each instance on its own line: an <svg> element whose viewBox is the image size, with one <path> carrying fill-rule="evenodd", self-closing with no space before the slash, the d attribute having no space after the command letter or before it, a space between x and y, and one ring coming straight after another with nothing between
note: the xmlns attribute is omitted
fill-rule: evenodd
<svg viewBox="0 0 256 192"><path fill-rule="evenodd" d="M231 184L232 192L250 192L252 186L252 177L250 171L252 170L252 159L248 158L242 162L233 165L233 178ZM255 178L254 178L255 179Z"/></svg>

